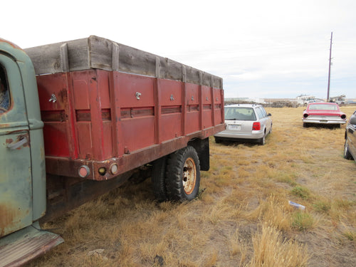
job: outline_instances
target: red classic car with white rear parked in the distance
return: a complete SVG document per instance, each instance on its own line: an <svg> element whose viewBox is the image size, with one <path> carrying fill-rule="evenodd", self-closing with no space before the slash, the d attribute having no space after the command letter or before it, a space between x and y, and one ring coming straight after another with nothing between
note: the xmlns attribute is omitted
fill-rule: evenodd
<svg viewBox="0 0 356 267"><path fill-rule="evenodd" d="M310 124L340 125L345 124L346 115L340 111L337 103L309 103L303 112L303 127Z"/></svg>

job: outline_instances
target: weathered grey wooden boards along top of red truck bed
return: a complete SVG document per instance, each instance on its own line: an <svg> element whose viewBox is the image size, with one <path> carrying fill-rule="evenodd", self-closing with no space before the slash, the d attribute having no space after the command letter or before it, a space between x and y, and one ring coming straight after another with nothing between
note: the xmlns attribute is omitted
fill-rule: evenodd
<svg viewBox="0 0 356 267"><path fill-rule="evenodd" d="M31 58L37 75L98 68L218 89L223 87L222 78L215 75L98 36L26 48L24 51Z"/></svg>

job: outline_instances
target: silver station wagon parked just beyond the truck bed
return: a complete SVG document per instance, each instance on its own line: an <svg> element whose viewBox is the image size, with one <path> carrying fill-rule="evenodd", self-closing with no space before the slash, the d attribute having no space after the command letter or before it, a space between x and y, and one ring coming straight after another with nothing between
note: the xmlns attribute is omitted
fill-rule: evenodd
<svg viewBox="0 0 356 267"><path fill-rule="evenodd" d="M215 142L231 140L265 144L266 136L272 132L271 113L261 105L237 104L225 106L226 130L214 135Z"/></svg>

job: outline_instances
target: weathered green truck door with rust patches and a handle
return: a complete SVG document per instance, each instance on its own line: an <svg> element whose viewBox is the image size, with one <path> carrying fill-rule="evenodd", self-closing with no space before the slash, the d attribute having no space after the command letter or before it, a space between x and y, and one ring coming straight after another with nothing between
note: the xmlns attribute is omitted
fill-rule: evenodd
<svg viewBox="0 0 356 267"><path fill-rule="evenodd" d="M0 53L0 237L32 224L31 147L21 73ZM7 93L4 93L7 90Z"/></svg>

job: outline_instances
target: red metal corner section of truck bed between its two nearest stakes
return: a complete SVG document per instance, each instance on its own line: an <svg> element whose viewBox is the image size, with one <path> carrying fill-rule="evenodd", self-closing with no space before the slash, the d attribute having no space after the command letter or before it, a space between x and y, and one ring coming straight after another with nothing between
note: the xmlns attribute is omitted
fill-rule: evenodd
<svg viewBox="0 0 356 267"><path fill-rule="evenodd" d="M103 160L113 157L109 74L103 70L70 73L79 158Z"/></svg>

